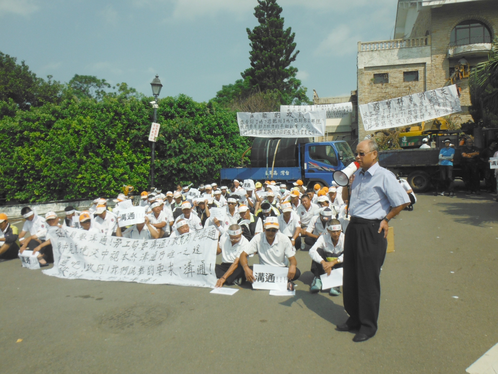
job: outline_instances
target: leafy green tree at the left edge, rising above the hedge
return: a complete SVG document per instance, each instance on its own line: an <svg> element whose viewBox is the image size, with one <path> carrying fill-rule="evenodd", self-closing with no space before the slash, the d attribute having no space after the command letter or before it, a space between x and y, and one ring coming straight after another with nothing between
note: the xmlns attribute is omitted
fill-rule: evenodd
<svg viewBox="0 0 498 374"><path fill-rule="evenodd" d="M21 109L27 109L59 101L62 85L52 81L51 75L47 78L47 81L38 78L24 61L17 64L17 58L0 52L0 114L11 114L14 103ZM10 110L5 112L5 106Z"/></svg>

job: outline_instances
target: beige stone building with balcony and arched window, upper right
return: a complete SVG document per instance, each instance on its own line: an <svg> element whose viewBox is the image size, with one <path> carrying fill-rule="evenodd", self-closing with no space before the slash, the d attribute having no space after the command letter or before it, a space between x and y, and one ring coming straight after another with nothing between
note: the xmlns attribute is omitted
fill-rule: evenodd
<svg viewBox="0 0 498 374"><path fill-rule="evenodd" d="M394 39L358 43L358 105L449 85L460 63L486 61L498 32L497 0L398 0ZM472 120L468 78L460 122ZM358 116L358 139L367 134Z"/></svg>

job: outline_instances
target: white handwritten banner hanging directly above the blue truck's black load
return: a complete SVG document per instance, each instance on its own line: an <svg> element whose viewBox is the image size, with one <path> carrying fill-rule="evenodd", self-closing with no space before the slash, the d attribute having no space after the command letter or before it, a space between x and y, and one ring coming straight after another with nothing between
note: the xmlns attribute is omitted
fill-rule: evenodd
<svg viewBox="0 0 498 374"><path fill-rule="evenodd" d="M326 114L311 112L238 112L241 136L259 138L298 138L323 136Z"/></svg>

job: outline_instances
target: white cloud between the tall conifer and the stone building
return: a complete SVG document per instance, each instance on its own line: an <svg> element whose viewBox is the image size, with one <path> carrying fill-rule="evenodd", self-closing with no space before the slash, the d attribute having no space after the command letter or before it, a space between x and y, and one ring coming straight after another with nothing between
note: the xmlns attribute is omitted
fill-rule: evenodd
<svg viewBox="0 0 498 374"><path fill-rule="evenodd" d="M344 56L357 50L359 40L361 36L353 33L350 26L339 25L320 42L315 55Z"/></svg>

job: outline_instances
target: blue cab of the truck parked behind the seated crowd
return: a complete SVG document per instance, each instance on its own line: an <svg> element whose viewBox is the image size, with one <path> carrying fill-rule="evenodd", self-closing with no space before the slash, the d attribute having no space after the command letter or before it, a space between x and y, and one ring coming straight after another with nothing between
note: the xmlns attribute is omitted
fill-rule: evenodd
<svg viewBox="0 0 498 374"><path fill-rule="evenodd" d="M330 186L332 174L355 161L345 141L306 143L304 145L304 178Z"/></svg>

